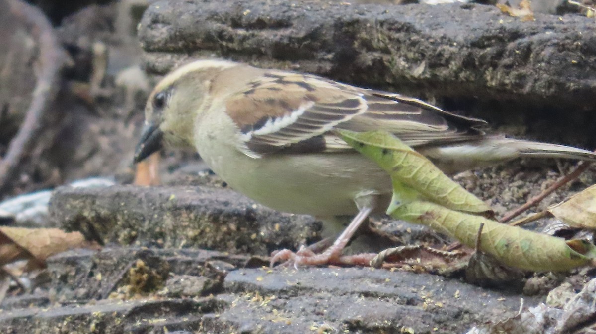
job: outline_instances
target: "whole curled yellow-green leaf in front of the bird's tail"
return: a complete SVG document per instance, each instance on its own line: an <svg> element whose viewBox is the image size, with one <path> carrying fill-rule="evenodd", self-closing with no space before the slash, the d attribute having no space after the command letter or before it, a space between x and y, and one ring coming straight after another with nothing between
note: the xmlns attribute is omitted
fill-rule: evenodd
<svg viewBox="0 0 596 334"><path fill-rule="evenodd" d="M588 241L565 241L471 214L491 209L392 134L337 132L391 176L393 200L387 213L393 218L430 226L468 247L475 247L484 224L480 251L519 269L566 271L596 264L596 247Z"/></svg>

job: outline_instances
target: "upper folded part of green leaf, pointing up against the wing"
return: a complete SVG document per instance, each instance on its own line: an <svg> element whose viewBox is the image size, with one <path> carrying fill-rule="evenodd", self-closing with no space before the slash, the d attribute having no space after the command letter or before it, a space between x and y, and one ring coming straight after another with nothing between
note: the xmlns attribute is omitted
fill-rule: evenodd
<svg viewBox="0 0 596 334"><path fill-rule="evenodd" d="M393 199L387 212L402 203L430 200L449 209L492 212L460 184L443 174L429 159L386 131L356 133L339 131L343 140L362 155L378 163L392 177Z"/></svg>

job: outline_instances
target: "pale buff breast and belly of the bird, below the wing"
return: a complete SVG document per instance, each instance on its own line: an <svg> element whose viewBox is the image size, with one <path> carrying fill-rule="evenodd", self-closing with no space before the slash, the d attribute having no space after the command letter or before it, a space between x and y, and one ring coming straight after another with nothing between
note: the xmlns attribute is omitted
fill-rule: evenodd
<svg viewBox="0 0 596 334"><path fill-rule="evenodd" d="M253 158L225 144L199 153L234 190L272 209L314 216L353 215L354 199L378 194L384 212L392 194L389 175L358 153L271 155Z"/></svg>

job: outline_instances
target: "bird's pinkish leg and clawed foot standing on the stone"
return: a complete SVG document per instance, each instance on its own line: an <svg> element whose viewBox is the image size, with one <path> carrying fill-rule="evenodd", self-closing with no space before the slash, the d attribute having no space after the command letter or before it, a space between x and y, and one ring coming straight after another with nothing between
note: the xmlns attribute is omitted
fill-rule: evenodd
<svg viewBox="0 0 596 334"><path fill-rule="evenodd" d="M364 205L358 205L359 212L352 219L352 222L344 229L342 234L337 237L336 241L333 242L327 250L321 254L314 254L308 248L302 248L296 253L291 250L284 249L277 251L271 256L271 266L280 261L288 261L297 266L319 266L321 264L336 264L342 263L340 257L342 255L343 248L346 247L347 243L353 237L362 222L367 219L368 215L375 208L375 198L372 195L365 196L366 198L356 198L356 204L362 203ZM361 201L360 199L364 200ZM363 203L364 202L364 203Z"/></svg>

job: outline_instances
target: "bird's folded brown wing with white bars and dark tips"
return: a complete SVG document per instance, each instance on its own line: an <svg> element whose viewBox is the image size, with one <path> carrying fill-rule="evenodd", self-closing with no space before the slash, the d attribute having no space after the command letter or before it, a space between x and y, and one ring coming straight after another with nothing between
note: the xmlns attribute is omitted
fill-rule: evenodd
<svg viewBox="0 0 596 334"><path fill-rule="evenodd" d="M422 146L482 137L486 124L412 97L283 71L250 81L228 100L226 112L240 129L238 148L253 157L352 150L334 128L385 130Z"/></svg>

